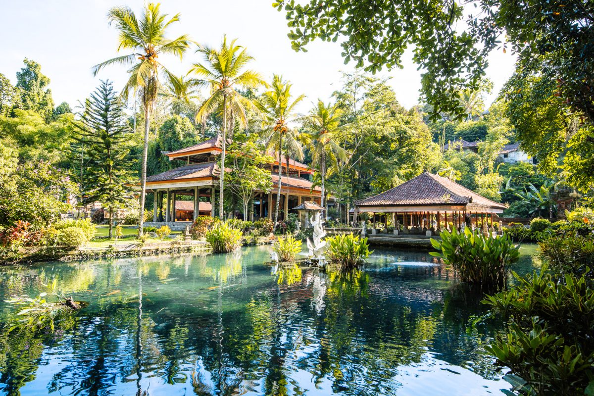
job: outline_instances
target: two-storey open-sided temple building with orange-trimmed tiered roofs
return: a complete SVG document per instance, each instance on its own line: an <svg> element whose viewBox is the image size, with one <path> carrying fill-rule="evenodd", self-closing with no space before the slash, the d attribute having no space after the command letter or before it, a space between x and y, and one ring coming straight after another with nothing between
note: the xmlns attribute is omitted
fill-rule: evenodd
<svg viewBox="0 0 594 396"><path fill-rule="evenodd" d="M219 175L217 164L222 153L220 137L198 143L191 147L164 153L170 161L183 161L183 165L147 177L147 194L153 194L153 221L147 226L160 226L168 223L176 229L185 227L188 221L198 215L218 216ZM274 155L273 155L274 157ZM314 172L307 164L289 159L276 160L270 166L273 188L270 192L255 191L254 205L245 220L257 220L261 217L274 217L276 192L279 185L279 166L282 169L279 219L287 213L296 213L293 208L304 201L320 203L321 189L313 186L309 178ZM226 169L229 172L230 169ZM182 199L180 197L185 196ZM188 198L191 197L191 200ZM331 198L330 198L331 199ZM179 205L178 202L184 202ZM187 203L189 202L189 203ZM330 204L333 204L331 200ZM165 207L165 210L162 208ZM175 208L175 210L173 210ZM154 224L153 224L154 223ZM175 224L179 223L179 224Z"/></svg>

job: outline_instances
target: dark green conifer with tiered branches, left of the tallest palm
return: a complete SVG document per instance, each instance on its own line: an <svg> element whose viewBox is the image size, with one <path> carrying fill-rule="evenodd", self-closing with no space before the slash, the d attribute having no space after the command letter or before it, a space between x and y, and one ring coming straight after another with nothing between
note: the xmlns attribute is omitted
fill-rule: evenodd
<svg viewBox="0 0 594 396"><path fill-rule="evenodd" d="M101 85L87 99L76 139L86 146L86 191L83 204L102 202L109 211L109 237L112 237L113 213L130 198L129 136L122 103L110 81Z"/></svg>

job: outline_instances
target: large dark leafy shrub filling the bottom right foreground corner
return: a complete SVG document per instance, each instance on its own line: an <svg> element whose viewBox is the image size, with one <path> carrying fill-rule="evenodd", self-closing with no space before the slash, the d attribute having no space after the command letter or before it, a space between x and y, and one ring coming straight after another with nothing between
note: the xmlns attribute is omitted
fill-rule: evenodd
<svg viewBox="0 0 594 396"><path fill-rule="evenodd" d="M513 276L515 286L485 300L512 321L508 334L497 335L487 350L519 376L513 377L519 394L592 394L592 281L551 274L546 266L540 273Z"/></svg>

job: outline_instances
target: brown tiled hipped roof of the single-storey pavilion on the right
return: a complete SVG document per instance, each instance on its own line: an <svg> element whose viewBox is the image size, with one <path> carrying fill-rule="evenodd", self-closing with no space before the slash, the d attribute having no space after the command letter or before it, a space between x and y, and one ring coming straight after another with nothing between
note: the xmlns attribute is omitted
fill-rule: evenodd
<svg viewBox="0 0 594 396"><path fill-rule="evenodd" d="M502 204L482 197L450 179L428 172L356 204L359 207L472 204L476 207L505 209Z"/></svg>

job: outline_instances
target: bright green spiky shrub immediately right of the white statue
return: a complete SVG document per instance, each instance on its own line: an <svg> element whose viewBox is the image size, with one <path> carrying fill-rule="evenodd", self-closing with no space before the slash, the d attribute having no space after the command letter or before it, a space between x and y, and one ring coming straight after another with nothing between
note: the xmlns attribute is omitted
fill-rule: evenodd
<svg viewBox="0 0 594 396"><path fill-rule="evenodd" d="M342 268L355 268L373 251L369 251L367 238L352 234L336 235L326 238L328 258Z"/></svg>

